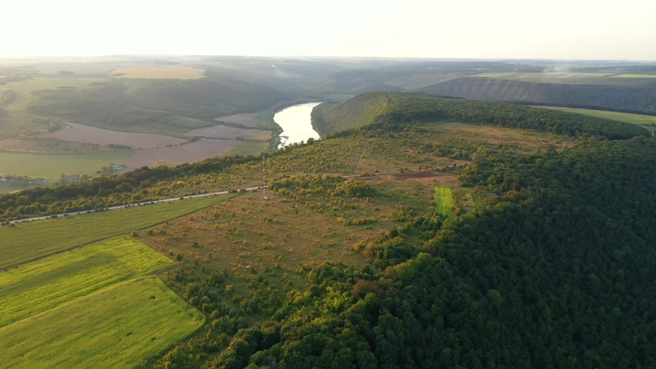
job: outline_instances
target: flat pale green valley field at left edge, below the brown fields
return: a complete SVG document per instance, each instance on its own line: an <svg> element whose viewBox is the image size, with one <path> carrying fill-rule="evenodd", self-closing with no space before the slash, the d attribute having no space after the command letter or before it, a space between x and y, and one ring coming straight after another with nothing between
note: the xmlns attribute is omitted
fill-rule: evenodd
<svg viewBox="0 0 656 369"><path fill-rule="evenodd" d="M118 163L134 150L112 150L89 154L19 154L0 152L0 173L58 179L65 175L92 174L101 167Z"/></svg>

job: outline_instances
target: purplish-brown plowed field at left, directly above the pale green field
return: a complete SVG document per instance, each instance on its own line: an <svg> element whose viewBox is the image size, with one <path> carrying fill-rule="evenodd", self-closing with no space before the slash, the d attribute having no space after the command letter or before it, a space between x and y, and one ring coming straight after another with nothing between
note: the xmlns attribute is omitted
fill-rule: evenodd
<svg viewBox="0 0 656 369"><path fill-rule="evenodd" d="M175 145L186 142L184 139L156 135L154 133L109 131L108 129L96 128L78 123L66 123L66 125L70 128L55 133L49 133L44 137L100 145L122 144L130 146L131 148L157 148L169 144Z"/></svg>

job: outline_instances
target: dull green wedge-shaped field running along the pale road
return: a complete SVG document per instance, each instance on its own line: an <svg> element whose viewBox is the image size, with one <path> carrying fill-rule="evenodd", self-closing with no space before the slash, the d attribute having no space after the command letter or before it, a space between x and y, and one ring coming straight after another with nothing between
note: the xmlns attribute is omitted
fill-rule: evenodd
<svg viewBox="0 0 656 369"><path fill-rule="evenodd" d="M152 227L235 196L224 194L0 227L0 268Z"/></svg>

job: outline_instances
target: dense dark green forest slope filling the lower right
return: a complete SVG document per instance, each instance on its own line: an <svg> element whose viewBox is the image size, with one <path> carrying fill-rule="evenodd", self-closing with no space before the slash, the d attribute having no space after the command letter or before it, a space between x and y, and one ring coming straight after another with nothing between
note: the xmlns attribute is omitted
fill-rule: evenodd
<svg viewBox="0 0 656 369"><path fill-rule="evenodd" d="M213 368L653 368L656 141L478 158L502 193L325 263Z"/></svg>

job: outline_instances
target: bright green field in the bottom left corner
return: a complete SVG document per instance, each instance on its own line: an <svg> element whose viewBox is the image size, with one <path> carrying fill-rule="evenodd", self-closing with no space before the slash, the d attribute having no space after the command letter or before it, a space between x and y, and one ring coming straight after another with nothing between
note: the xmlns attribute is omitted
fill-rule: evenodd
<svg viewBox="0 0 656 369"><path fill-rule="evenodd" d="M133 368L204 322L159 278L129 280L0 328L0 368Z"/></svg>

